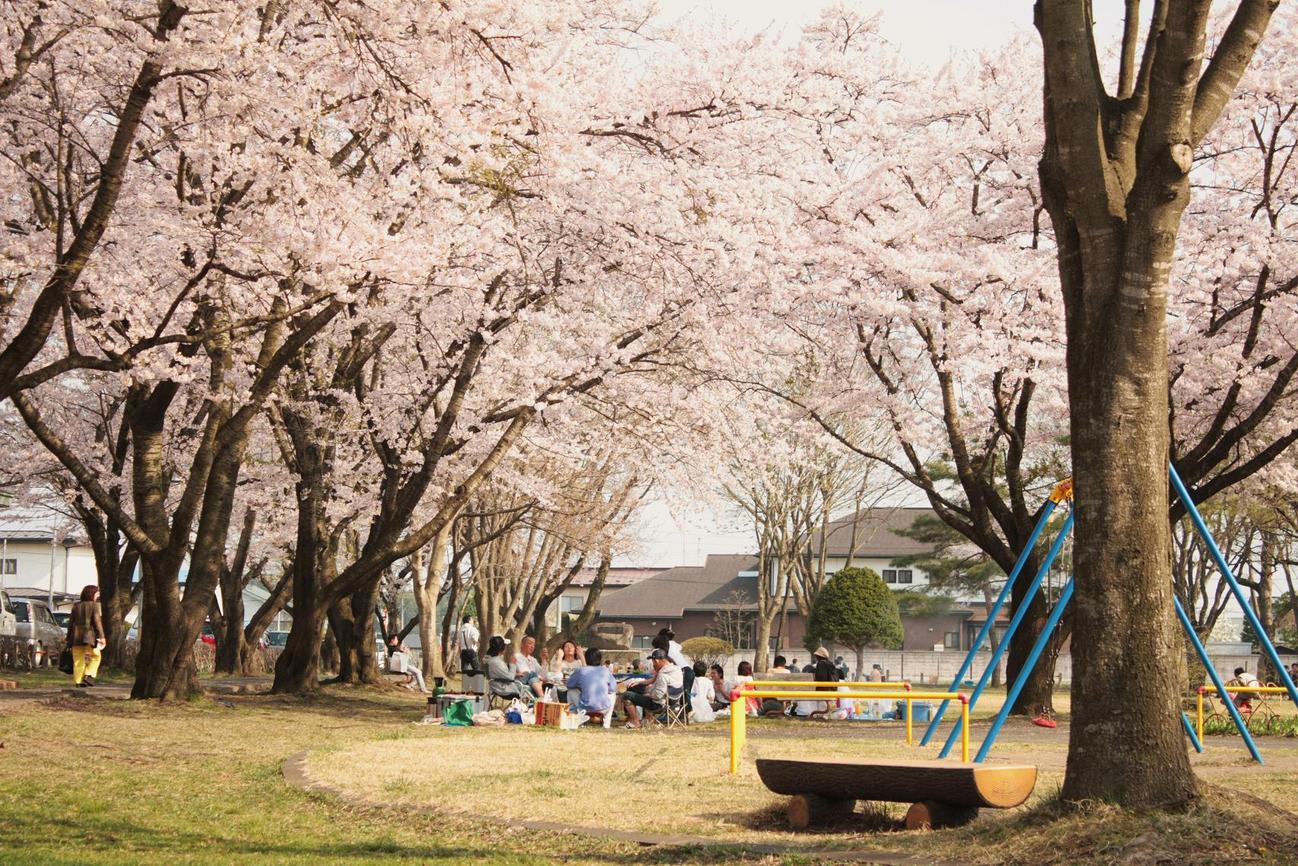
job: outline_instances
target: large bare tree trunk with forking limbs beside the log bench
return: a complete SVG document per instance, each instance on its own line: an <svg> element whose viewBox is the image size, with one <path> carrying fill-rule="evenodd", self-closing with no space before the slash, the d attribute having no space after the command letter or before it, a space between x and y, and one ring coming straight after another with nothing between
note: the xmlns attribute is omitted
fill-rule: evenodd
<svg viewBox="0 0 1298 866"><path fill-rule="evenodd" d="M1194 148L1277 4L1233 5L1205 64L1211 4L1155 4L1147 26L1128 4L1119 92L1110 95L1090 4L1036 4L1046 134L1038 174L1064 301L1076 514L1064 800L1168 809L1198 798L1176 686L1167 293Z"/></svg>

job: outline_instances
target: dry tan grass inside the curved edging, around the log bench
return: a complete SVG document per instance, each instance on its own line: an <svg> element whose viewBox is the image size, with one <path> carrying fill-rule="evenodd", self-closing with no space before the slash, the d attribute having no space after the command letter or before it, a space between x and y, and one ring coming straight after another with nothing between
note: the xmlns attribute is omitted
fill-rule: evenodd
<svg viewBox="0 0 1298 866"><path fill-rule="evenodd" d="M981 730L976 734L980 737ZM1272 756L1272 765L1279 766L1254 767L1227 743L1215 744L1197 758L1197 765L1211 774L1214 784L1228 787L1221 791L1253 791L1263 798L1254 802L1216 793L1192 815L1169 818L1102 805L1062 810L1055 801L1063 782L1066 735L1018 724L1009 728L996 754L1001 761L1041 767L1027 806L1007 813L985 810L972 827L938 834L901 832L903 805L871 804L851 819L794 836L784 823L784 798L762 786L753 763L757 757L935 757L936 748L909 748L900 737L897 727L762 721L750 726L740 774L729 776L724 726L688 732L411 727L345 749L314 753L310 767L313 778L374 802L431 805L505 822L553 821L697 835L737 845L796 840L813 858L816 849L884 848L955 862L1102 863L1118 862L1115 858L1136 844L1128 853L1149 848L1157 857L1132 862L1162 862L1160 852L1173 850L1176 840L1185 839L1188 848L1205 853L1186 853L1175 862L1214 862L1214 852L1232 852L1234 860L1236 849L1247 853L1247 845L1224 834L1232 826L1251 827L1256 822L1262 822L1259 832L1269 835L1267 844L1255 848L1272 852L1267 856L1298 856L1282 832L1292 834L1298 818L1290 817L1286 824L1276 817L1282 813L1255 815L1256 804L1273 809L1268 801L1298 801L1298 773L1275 773L1298 763L1298 757ZM670 815L670 822L665 823L663 815Z"/></svg>

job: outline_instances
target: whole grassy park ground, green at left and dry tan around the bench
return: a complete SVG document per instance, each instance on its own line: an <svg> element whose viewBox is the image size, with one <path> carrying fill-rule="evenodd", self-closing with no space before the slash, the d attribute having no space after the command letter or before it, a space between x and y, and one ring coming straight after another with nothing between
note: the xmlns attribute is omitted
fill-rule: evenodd
<svg viewBox="0 0 1298 866"><path fill-rule="evenodd" d="M1208 805L1151 818L1102 806L1058 813L1051 796L1066 732L1016 724L997 753L1042 767L1032 810L936 834L879 832L898 810L858 813L845 824L792 836L779 828L780 800L759 787L750 760L739 780L726 776L722 724L688 734L450 731L411 724L421 705L395 689L187 705L84 693L0 701L0 862L792 866L815 862L823 847L907 852L920 862L1099 863L1123 852L1153 857L1133 862L1298 861L1298 818L1271 805L1298 802L1292 739L1263 743L1266 769L1216 739L1198 763L1219 786ZM749 743L749 758L911 754L900 726L759 721ZM345 788L348 800L284 783L282 762L302 750L310 752L312 775ZM644 848L496 822L510 815L646 827L698 835L701 844ZM729 845L705 847L705 839Z"/></svg>

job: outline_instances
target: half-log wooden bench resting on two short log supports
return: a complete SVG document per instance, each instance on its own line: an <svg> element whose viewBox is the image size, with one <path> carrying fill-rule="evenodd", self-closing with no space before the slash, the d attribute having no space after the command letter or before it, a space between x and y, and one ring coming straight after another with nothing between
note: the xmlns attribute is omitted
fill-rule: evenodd
<svg viewBox="0 0 1298 866"><path fill-rule="evenodd" d="M1023 804L1037 784L1032 766L948 761L758 758L757 774L767 788L790 797L794 830L851 814L857 800L911 804L907 830L958 827L976 818L980 808Z"/></svg>

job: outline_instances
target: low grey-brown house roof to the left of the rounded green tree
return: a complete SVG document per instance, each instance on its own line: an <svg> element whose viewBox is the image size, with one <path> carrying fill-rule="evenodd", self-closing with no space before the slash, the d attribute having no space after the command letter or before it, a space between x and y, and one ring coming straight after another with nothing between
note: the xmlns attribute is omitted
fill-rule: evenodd
<svg viewBox="0 0 1298 866"><path fill-rule="evenodd" d="M678 566L618 589L600 602L606 619L679 619L687 610L722 610L757 601L750 553L711 554L701 566Z"/></svg>

